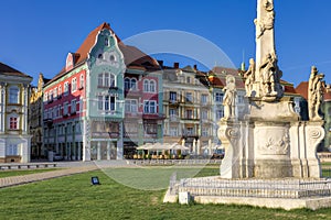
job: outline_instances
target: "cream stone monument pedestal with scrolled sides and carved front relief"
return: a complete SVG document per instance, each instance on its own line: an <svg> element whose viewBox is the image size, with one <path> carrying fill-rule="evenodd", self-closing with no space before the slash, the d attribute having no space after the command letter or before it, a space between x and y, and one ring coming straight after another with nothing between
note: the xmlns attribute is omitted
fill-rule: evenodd
<svg viewBox="0 0 331 220"><path fill-rule="evenodd" d="M221 177L319 178L322 124L300 122L288 100L250 103L244 121L218 122L217 135L225 147Z"/></svg>

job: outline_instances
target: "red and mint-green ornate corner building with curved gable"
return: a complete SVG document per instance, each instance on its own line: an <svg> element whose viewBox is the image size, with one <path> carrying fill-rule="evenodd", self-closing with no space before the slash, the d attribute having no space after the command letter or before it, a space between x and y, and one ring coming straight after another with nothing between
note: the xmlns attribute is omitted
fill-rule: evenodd
<svg viewBox="0 0 331 220"><path fill-rule="evenodd" d="M118 160L162 141L159 72L103 23L43 88L45 146L65 160Z"/></svg>

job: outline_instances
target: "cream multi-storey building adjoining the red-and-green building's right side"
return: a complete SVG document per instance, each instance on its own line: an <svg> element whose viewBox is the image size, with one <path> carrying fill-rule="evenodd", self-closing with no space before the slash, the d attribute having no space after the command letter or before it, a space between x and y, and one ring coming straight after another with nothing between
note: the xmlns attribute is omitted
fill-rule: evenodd
<svg viewBox="0 0 331 220"><path fill-rule="evenodd" d="M162 62L160 62L163 64ZM200 81L203 73L194 65L163 66L164 143L179 143L193 155L213 140L212 97Z"/></svg>

